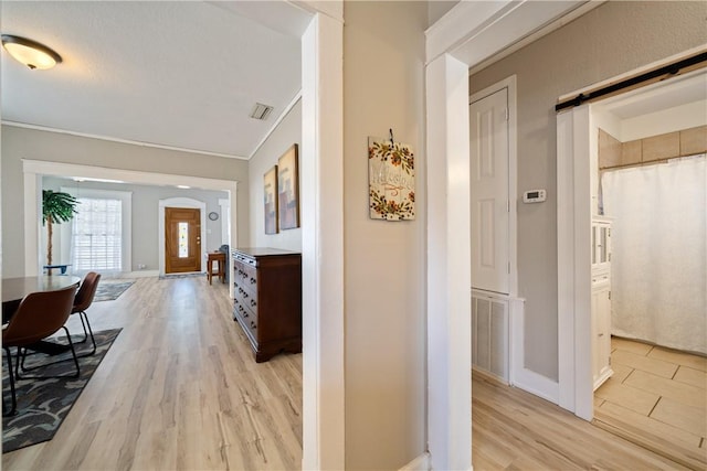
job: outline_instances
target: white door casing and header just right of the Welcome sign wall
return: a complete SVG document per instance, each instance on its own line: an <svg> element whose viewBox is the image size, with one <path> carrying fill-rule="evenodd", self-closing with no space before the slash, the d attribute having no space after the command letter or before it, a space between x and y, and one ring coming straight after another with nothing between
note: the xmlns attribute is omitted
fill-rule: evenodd
<svg viewBox="0 0 707 471"><path fill-rule="evenodd" d="M426 142L428 142L428 440L435 469L471 468L471 367L466 371L450 352L468 358L471 364L471 274L455 279L454 261L469 253L468 212L468 68L499 53L524 36L585 3L569 2L458 2L425 32ZM507 7L509 10L503 10ZM503 11L502 11L503 10ZM514 14L507 14L515 12ZM525 14L525 13L528 14ZM524 14L518 14L524 13ZM493 31L484 32L494 25ZM458 61L453 65L451 57ZM443 62L443 63L442 63ZM446 67L446 65L450 65ZM460 96L460 90L465 92ZM460 100L458 105L453 101ZM462 122L464 126L460 126ZM452 146L450 146L453 143ZM455 153L466 149L465 164ZM466 186L466 207L458 207L457 186ZM447 194L449 191L449 194ZM463 203L462 203L463 204ZM456 211L455 211L456 210ZM447 218L454 218L450 231ZM445 233L445 231L447 233ZM449 261L453 261L449 264ZM468 264L465 264L468 265ZM468 281L465 286L464 282ZM450 282L444 287L445 282ZM462 301L462 299L464 301ZM460 309L462 308L462 309ZM439 324L437 324L439 323ZM449 339L447 339L449 335ZM449 340L447 343L445 341ZM437 381L439 378L443 381ZM467 394L462 404L458 392ZM450 407L458 400L460 419ZM457 440L461 437L464 442ZM469 463L462 464L462 463Z"/></svg>

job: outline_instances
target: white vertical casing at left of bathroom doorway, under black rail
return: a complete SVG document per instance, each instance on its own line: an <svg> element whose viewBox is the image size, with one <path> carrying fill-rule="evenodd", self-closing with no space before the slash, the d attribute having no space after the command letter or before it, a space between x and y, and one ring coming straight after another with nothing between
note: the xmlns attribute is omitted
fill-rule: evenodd
<svg viewBox="0 0 707 471"><path fill-rule="evenodd" d="M558 404L585 420L594 407L589 137L590 105L557 115Z"/></svg>

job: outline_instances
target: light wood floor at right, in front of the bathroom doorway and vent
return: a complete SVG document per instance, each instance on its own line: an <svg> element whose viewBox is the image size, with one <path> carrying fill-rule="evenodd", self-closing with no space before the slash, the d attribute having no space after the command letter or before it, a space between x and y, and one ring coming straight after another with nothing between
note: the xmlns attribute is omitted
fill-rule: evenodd
<svg viewBox="0 0 707 471"><path fill-rule="evenodd" d="M474 471L687 469L476 372L472 416Z"/></svg>

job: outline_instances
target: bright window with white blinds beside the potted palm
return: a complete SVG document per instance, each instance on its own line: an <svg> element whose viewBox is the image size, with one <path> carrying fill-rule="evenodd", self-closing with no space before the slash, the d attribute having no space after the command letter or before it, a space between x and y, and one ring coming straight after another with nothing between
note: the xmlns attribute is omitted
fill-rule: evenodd
<svg viewBox="0 0 707 471"><path fill-rule="evenodd" d="M123 202L80 197L72 227L74 270L123 270Z"/></svg>

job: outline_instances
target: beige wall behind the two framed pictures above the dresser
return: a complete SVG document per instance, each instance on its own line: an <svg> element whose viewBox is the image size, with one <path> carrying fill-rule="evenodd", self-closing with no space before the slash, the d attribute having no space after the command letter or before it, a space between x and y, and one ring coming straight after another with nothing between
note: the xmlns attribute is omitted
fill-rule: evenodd
<svg viewBox="0 0 707 471"><path fill-rule="evenodd" d="M250 188L250 244L253 247L274 247L302 250L302 228L265 234L263 207L263 175L277 159L292 147L302 146L302 100L289 110L255 154L249 160ZM302 150L302 148L300 148ZM241 244L241 246L243 246Z"/></svg>

